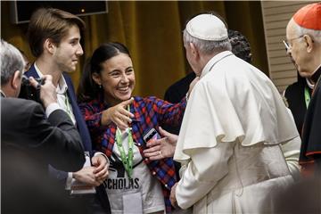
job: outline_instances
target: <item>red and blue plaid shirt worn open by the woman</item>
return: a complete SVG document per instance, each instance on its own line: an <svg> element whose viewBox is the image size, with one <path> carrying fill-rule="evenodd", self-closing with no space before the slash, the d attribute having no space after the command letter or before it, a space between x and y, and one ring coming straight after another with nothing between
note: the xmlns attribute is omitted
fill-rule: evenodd
<svg viewBox="0 0 321 214"><path fill-rule="evenodd" d="M143 151L146 148L143 139L144 133L150 128L158 130L159 126L164 124L176 125L180 123L183 119L186 100L184 98L180 103L173 104L154 96L146 98L136 96L134 98L134 103L130 105L130 112L135 115L131 123L132 135L136 146L144 157ZM79 108L89 128L95 150L105 153L108 157L111 156L115 144L117 128L113 122L108 126L102 126L101 124L102 112L109 107L103 102L102 97L88 103L79 104ZM173 159L150 161L146 158L144 163L148 166L152 175L157 177L161 182L166 211L171 212L169 193L171 187L177 182Z"/></svg>

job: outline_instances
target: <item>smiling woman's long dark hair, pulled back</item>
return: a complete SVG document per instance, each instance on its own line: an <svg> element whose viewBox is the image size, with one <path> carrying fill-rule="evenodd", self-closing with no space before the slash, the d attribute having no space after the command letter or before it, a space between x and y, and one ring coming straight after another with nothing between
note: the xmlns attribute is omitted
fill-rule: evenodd
<svg viewBox="0 0 321 214"><path fill-rule="evenodd" d="M103 70L102 63L118 55L119 53L130 53L128 48L120 43L112 42L100 45L92 57L87 60L80 83L78 86L78 103L89 102L98 97L103 92L103 88L98 86L92 78L93 73L100 74Z"/></svg>

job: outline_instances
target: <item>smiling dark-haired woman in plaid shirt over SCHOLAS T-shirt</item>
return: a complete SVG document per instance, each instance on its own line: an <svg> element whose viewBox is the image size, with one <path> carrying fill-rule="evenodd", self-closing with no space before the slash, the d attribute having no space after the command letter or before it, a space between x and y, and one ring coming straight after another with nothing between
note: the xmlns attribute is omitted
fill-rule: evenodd
<svg viewBox="0 0 321 214"><path fill-rule="evenodd" d="M173 160L145 159L144 134L151 128L180 122L186 100L172 104L154 96L131 98L134 87L135 72L127 47L119 43L101 45L83 73L79 107L95 149L111 161L105 185L111 210L170 212L169 190L177 182ZM119 185L123 182L136 185Z"/></svg>

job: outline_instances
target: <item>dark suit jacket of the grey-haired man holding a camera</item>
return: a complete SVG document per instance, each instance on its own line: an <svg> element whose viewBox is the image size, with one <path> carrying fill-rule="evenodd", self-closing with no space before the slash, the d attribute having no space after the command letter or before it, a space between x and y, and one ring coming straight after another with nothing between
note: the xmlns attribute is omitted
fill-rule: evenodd
<svg viewBox="0 0 321 214"><path fill-rule="evenodd" d="M47 173L48 164L77 171L85 158L78 130L66 112L45 119L34 101L1 98L2 213L62 213L70 205Z"/></svg>

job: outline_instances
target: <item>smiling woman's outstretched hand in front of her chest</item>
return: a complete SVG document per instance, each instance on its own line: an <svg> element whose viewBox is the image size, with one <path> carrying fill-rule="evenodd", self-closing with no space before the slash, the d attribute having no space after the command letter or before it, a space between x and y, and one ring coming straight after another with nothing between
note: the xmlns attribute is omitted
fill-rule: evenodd
<svg viewBox="0 0 321 214"><path fill-rule="evenodd" d="M130 98L127 101L119 103L111 108L103 111L102 124L104 126L114 122L118 128L125 130L128 128L128 124L131 123L131 118L134 114L127 111L128 104L134 102L134 98Z"/></svg>

